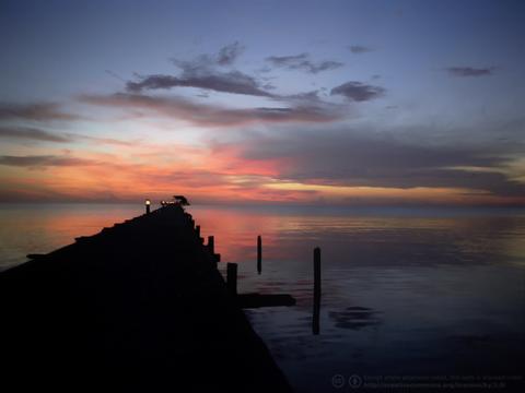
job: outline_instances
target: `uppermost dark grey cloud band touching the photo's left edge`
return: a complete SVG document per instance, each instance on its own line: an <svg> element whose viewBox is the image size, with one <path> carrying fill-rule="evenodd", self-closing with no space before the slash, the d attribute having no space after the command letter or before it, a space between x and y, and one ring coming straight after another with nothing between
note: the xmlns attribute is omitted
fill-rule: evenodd
<svg viewBox="0 0 525 393"><path fill-rule="evenodd" d="M78 120L77 115L67 114L60 110L56 103L36 104L11 104L0 103L0 120L23 119L23 120Z"/></svg>

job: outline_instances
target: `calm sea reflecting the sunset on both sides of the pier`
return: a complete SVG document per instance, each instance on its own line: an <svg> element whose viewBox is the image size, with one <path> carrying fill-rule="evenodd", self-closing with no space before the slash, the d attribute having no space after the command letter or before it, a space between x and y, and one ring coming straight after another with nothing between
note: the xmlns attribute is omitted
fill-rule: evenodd
<svg viewBox="0 0 525 393"><path fill-rule="evenodd" d="M292 385L332 378L523 374L525 212L191 206L240 291L298 305L247 311ZM141 205L0 205L0 269L142 213ZM262 236L262 274L256 237ZM312 250L322 248L320 334L312 334ZM221 264L223 266L223 264ZM223 267L221 267L223 269ZM498 381L502 381L501 378Z"/></svg>

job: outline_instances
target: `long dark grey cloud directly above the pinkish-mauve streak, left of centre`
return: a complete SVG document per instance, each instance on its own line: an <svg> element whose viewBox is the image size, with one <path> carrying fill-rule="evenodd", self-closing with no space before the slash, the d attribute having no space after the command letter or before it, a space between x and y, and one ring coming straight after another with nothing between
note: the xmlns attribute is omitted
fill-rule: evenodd
<svg viewBox="0 0 525 393"><path fill-rule="evenodd" d="M172 87L197 87L221 93L272 97L272 94L264 91L254 78L240 71L205 73L192 70L183 73L182 76L149 75L141 78L139 82L130 81L126 84L126 90L131 93Z"/></svg>

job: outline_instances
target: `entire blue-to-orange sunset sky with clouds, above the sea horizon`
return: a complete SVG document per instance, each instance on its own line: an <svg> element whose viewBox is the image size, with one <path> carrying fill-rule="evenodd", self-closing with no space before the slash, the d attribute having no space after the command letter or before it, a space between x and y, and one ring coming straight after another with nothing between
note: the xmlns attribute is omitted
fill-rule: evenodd
<svg viewBox="0 0 525 393"><path fill-rule="evenodd" d="M0 0L0 201L525 206L524 12Z"/></svg>

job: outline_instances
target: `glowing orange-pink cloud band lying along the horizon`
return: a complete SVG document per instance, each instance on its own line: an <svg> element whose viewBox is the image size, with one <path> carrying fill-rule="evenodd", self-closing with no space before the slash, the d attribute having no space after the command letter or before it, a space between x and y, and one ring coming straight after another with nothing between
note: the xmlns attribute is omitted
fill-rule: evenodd
<svg viewBox="0 0 525 393"><path fill-rule="evenodd" d="M242 144L137 144L112 153L34 148L35 155L0 156L1 200L141 201L174 193L218 203L330 204L524 204L462 187L337 184L283 177L296 162L284 154L257 157Z"/></svg>

